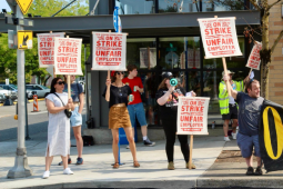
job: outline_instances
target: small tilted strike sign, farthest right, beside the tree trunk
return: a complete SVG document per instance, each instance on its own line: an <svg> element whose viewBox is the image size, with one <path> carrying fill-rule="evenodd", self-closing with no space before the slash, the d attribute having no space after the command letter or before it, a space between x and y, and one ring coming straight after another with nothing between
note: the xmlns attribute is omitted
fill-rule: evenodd
<svg viewBox="0 0 283 189"><path fill-rule="evenodd" d="M245 67L255 69L255 70L260 70L260 66L261 66L261 54L260 51L262 50L262 43L261 42L256 42L253 46L252 52L250 53L247 63Z"/></svg>

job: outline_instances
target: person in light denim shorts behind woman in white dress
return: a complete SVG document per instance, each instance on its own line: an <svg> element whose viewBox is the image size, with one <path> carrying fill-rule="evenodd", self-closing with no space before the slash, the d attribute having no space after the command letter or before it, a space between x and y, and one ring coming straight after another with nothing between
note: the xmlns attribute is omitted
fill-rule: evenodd
<svg viewBox="0 0 283 189"><path fill-rule="evenodd" d="M64 74L64 80L68 81L67 74ZM84 103L84 97L83 97L83 90L82 90L82 84L74 82L75 81L75 76L71 74L70 76L70 81L71 81L71 97L73 100L74 105L74 110L72 111L72 116L70 118L71 120L71 127L73 128L73 135L77 141L77 150L78 150L78 158L77 158L77 163L75 165L82 165L83 159L82 159L82 148L83 148L83 141L81 137L81 125L82 125L82 109L83 109L83 103ZM64 84L64 92L68 92L68 83ZM70 165L72 162L70 155L68 155L68 163ZM59 166L62 166L62 161L59 162Z"/></svg>

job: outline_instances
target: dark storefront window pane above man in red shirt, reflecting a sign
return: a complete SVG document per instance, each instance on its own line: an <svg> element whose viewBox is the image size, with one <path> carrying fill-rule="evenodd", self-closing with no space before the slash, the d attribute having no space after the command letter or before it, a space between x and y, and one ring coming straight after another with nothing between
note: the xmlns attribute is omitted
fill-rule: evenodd
<svg viewBox="0 0 283 189"><path fill-rule="evenodd" d="M127 39L127 64L135 64L139 69L156 67L155 38Z"/></svg>

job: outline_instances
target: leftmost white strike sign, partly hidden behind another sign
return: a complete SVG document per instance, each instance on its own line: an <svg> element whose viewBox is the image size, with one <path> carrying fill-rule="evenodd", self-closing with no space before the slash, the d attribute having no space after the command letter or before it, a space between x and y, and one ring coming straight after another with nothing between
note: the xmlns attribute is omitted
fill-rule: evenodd
<svg viewBox="0 0 283 189"><path fill-rule="evenodd" d="M54 64L54 37L63 38L64 33L38 34L39 67L48 68Z"/></svg>

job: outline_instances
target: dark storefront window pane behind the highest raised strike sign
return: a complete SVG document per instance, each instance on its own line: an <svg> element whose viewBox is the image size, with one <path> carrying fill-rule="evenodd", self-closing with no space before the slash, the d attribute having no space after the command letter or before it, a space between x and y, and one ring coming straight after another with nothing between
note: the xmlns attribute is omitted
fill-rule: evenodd
<svg viewBox="0 0 283 189"><path fill-rule="evenodd" d="M241 57L226 57L226 63L229 69L233 68L244 68L245 67L245 48L244 48L244 37L237 37L239 46L243 56ZM203 50L203 54L204 50ZM223 69L222 59L203 59L204 69Z"/></svg>

